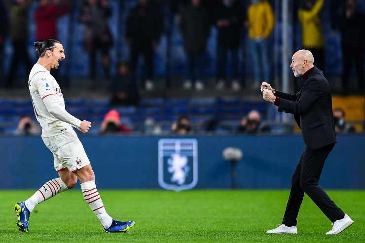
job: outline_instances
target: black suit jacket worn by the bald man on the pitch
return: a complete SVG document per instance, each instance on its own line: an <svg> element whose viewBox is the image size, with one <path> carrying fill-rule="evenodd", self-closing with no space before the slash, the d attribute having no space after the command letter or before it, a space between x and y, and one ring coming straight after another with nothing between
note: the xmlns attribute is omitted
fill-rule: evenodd
<svg viewBox="0 0 365 243"><path fill-rule="evenodd" d="M317 149L336 142L330 86L323 72L309 69L303 87L296 95L275 91L280 112L294 114L305 144Z"/></svg>

